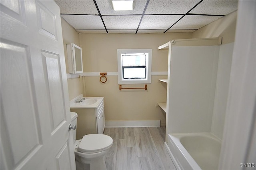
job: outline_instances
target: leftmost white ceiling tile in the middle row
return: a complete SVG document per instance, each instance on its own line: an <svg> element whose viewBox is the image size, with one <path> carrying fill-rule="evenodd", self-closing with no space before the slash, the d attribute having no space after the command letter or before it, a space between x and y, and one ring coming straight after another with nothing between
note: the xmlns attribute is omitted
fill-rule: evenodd
<svg viewBox="0 0 256 170"><path fill-rule="evenodd" d="M105 30L100 16L61 15L76 30Z"/></svg>

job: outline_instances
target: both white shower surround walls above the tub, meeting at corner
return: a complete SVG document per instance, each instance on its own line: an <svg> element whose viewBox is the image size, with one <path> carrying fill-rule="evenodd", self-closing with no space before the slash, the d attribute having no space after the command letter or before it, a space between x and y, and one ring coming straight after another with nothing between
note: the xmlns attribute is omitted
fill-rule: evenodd
<svg viewBox="0 0 256 170"><path fill-rule="evenodd" d="M166 135L212 132L222 139L233 46L172 46Z"/></svg>

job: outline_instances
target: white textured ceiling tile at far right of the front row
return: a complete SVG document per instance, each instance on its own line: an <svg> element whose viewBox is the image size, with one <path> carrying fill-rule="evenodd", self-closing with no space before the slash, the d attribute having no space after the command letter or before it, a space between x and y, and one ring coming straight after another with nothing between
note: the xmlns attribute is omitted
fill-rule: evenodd
<svg viewBox="0 0 256 170"><path fill-rule="evenodd" d="M227 15L237 10L236 0L204 0L196 6L191 14Z"/></svg>

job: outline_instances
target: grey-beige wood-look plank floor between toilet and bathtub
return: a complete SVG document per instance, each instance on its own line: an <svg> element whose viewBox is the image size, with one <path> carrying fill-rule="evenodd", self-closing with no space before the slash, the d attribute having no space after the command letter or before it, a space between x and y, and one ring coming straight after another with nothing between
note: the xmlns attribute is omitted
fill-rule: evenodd
<svg viewBox="0 0 256 170"><path fill-rule="evenodd" d="M105 128L113 138L108 170L176 170L164 147L165 127Z"/></svg>

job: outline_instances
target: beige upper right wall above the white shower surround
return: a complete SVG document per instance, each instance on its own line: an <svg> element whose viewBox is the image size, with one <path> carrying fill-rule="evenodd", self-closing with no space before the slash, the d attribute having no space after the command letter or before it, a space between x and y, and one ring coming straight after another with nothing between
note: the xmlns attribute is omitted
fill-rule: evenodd
<svg viewBox="0 0 256 170"><path fill-rule="evenodd" d="M222 37L222 44L234 42L237 11L232 12L192 33L192 38Z"/></svg>

